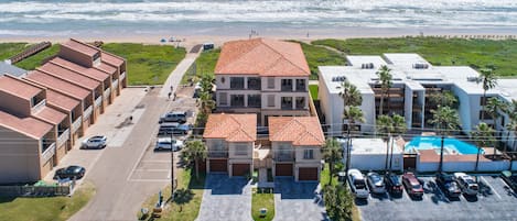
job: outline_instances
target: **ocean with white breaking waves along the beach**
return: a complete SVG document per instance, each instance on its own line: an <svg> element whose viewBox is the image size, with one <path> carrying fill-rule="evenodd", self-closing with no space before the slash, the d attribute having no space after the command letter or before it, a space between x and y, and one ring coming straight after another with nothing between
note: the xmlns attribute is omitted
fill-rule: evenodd
<svg viewBox="0 0 517 221"><path fill-rule="evenodd" d="M517 0L0 0L1 36L517 33Z"/></svg>

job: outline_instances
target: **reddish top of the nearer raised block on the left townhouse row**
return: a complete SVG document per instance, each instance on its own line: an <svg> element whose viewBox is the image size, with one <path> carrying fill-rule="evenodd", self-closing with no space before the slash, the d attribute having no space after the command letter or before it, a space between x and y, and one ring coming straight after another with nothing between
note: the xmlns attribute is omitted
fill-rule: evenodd
<svg viewBox="0 0 517 221"><path fill-rule="evenodd" d="M0 90L30 100L43 89L10 75L0 76Z"/></svg>

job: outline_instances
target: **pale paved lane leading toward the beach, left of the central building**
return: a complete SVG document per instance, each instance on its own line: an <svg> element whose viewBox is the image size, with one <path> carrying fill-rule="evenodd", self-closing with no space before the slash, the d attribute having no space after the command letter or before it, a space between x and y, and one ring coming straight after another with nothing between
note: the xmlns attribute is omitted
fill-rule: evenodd
<svg viewBox="0 0 517 221"><path fill-rule="evenodd" d="M96 195L69 220L136 220L141 203L169 184L164 179L133 180L131 177L151 141L155 137L159 117L179 104L166 99L170 86L174 86L174 90L177 88L181 78L198 54L186 55L169 75L164 90L159 88L150 90L141 99L140 106L144 107L144 112L138 121L133 121L134 124L127 139L120 142L121 145L118 147L108 145L86 174L85 179L94 183ZM165 96L162 96L163 92ZM164 103L168 104L164 106ZM100 120L104 120L103 117Z"/></svg>

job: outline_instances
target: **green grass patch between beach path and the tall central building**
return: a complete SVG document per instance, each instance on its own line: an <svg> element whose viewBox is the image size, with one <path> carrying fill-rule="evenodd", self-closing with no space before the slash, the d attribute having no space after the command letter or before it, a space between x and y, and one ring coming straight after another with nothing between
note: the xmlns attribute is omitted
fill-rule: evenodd
<svg viewBox="0 0 517 221"><path fill-rule="evenodd" d="M191 69L181 79L181 84L189 82L194 76L200 77L203 74L214 74L215 65L219 58L220 48L202 52L195 62L195 69Z"/></svg>

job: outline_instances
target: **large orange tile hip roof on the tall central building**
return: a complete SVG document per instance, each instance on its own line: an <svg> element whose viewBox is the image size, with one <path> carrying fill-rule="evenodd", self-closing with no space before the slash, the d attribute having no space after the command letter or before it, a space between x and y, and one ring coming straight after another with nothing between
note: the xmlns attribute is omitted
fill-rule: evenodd
<svg viewBox="0 0 517 221"><path fill-rule="evenodd" d="M254 38L225 43L215 74L306 77L311 71L300 44Z"/></svg>

